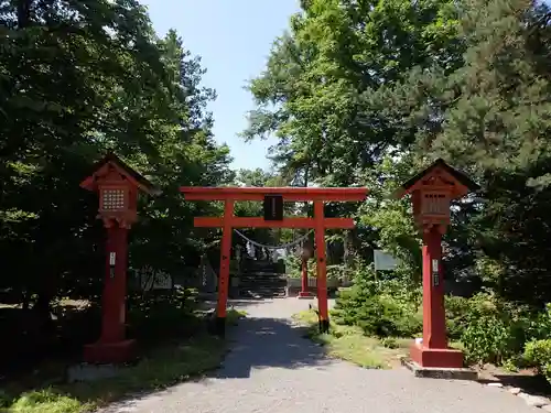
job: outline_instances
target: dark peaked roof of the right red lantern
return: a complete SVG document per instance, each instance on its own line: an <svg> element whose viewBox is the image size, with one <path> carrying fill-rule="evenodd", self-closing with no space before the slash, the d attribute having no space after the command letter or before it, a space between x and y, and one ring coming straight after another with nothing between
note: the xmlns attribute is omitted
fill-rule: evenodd
<svg viewBox="0 0 551 413"><path fill-rule="evenodd" d="M436 176L436 173L442 175L441 177L444 178L444 181L447 181L449 185L455 187L453 193L454 197L461 197L469 192L478 191L480 188L480 186L471 180L464 172L450 166L443 159L439 157L426 169L403 183L395 193L395 196L402 197L411 194L415 189L420 188L419 184L421 181L429 177L431 174Z"/></svg>

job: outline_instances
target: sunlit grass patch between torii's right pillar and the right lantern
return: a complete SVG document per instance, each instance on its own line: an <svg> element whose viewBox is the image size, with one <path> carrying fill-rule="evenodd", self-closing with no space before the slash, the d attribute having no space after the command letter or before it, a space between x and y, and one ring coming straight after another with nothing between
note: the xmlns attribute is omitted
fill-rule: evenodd
<svg viewBox="0 0 551 413"><path fill-rule="evenodd" d="M369 369L390 369L399 365L399 357L407 354L411 339L367 337L361 329L331 323L328 334L320 334L317 315L309 309L293 315L307 327L307 336L325 347L327 355Z"/></svg>

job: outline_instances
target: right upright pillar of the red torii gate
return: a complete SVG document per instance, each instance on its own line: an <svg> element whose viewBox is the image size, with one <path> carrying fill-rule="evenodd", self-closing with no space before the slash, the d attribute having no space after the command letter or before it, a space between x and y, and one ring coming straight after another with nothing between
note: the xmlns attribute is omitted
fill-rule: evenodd
<svg viewBox="0 0 551 413"><path fill-rule="evenodd" d="M317 308L320 311L320 330L329 330L329 314L327 308L327 263L325 260L325 228L323 200L314 202L316 270L317 270Z"/></svg>

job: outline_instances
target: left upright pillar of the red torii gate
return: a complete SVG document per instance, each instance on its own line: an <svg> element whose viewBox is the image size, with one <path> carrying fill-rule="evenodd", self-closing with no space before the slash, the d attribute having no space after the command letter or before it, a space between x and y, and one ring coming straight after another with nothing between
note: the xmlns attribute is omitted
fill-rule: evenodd
<svg viewBox="0 0 551 413"><path fill-rule="evenodd" d="M231 221L234 218L234 200L224 202L224 217L220 243L220 271L218 275L218 302L216 307L216 329L220 336L226 332L226 308L229 292L229 262L231 256Z"/></svg>

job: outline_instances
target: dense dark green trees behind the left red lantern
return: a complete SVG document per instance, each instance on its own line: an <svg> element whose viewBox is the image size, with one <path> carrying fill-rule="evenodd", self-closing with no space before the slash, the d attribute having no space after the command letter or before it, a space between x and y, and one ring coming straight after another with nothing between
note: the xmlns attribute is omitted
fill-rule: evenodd
<svg viewBox="0 0 551 413"><path fill-rule="evenodd" d="M107 151L163 191L141 202L132 265L195 265L191 218L205 206L177 187L231 178L199 59L175 32L158 39L132 0L3 1L0 19L0 286L25 303L98 291L98 200L78 184Z"/></svg>

